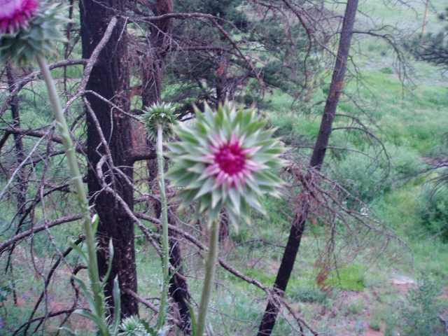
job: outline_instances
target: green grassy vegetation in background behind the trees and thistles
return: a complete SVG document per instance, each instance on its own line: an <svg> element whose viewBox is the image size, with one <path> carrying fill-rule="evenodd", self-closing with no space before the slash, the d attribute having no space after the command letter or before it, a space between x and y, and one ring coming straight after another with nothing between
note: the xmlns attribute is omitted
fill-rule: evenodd
<svg viewBox="0 0 448 336"><path fill-rule="evenodd" d="M355 29L368 29L381 22L381 25L404 29L407 35L402 36L407 38L412 31L419 31L425 3L365 1L360 3ZM442 12L445 4L443 0L431 1L426 25L429 34L444 29L445 23L437 18L437 13ZM243 12L243 7L235 5L235 13ZM335 15L342 15L344 6L332 4L328 5L328 10L332 10ZM230 19L244 22L241 15L235 14L236 18ZM296 33L300 33L298 28ZM233 37L236 40L239 38ZM347 247L350 241L337 241L335 263L338 267L329 270L323 285L318 281L322 270L319 260L323 258L330 230L321 221L319 214L314 214L310 216L311 224L302 239L286 298L314 330L328 335L444 335L443 325L437 316L448 319L448 190L446 184L438 178L446 174L447 167L433 168L437 162L448 158L446 68L433 66L405 53L409 67L406 68L407 76L403 77L403 63L398 62L393 45L363 34L356 35L354 39L349 64L351 79L339 102L337 113L358 118L369 126L376 140L372 141L365 133L356 130L337 130L338 127L347 126L344 117L337 117L323 173L357 197L357 200L356 197L346 198L346 207L360 213L365 211L365 216L376 214L385 228L395 232L406 244L391 246L387 251L374 251L374 246L368 246L354 253ZM80 52L79 48L73 50L76 56L80 56ZM306 165L321 123L331 73L321 64L325 60L320 62L320 57L316 57L309 66L318 73L318 84L312 85L309 96L295 97L291 92L302 89L300 80L291 83L275 76L276 61L286 55L279 50L269 52L275 57L268 60L272 62L266 62L269 69L265 73L266 76L272 75L267 80L270 80L272 87L262 94L257 80L250 78L244 87L235 84L235 100L241 106L255 102L260 116L267 118L269 125L278 127L276 136L282 137L288 146L295 148L292 155L295 155L297 165ZM192 75L183 69L183 66L194 67L195 62L201 63L202 59L194 59L190 64L176 64L174 59L167 60L169 65L162 100L176 103L179 110L185 113L190 111L188 104L204 99L201 96L203 90L195 82L195 73ZM295 69L302 66L295 65ZM244 68L237 62L233 66L235 73L239 71L236 70L237 66ZM80 77L80 67L69 67L67 71L69 78ZM63 77L62 71L53 73L56 78ZM174 79L187 75L188 78L182 84L174 83ZM203 80L204 84L209 85L211 93L216 87L212 83L218 80L213 76L216 76L213 72L205 73ZM138 78L132 80L137 82ZM43 85L37 78L31 86L32 90L22 90L20 93L22 124L34 127L48 125L51 120L49 107L45 99L36 99L38 95L44 94ZM2 87L1 99L8 96L5 87ZM141 104L139 99L134 99L132 109L140 109ZM69 111L70 116L74 118L78 109L78 106L73 106ZM12 122L10 116L3 116L4 125ZM83 126L73 132L83 137ZM32 138L23 139L26 148L34 146L36 141ZM8 139L1 158L1 164L5 166L0 176L1 188L6 185L11 167L14 166L9 162L16 160L12 148L13 141ZM62 159L55 156L49 160L51 167L55 167L51 171L51 182L55 185L62 183L66 177L66 167L60 164ZM146 179L143 173L145 166L143 162L137 162L134 166L137 172L135 175L141 174L142 180ZM34 165L28 173L29 179L40 179L45 169L43 162ZM148 192L151 186L143 186L142 183L141 188L146 188ZM38 192L37 189L30 189L29 197L34 197ZM288 238L288 228L295 214L294 203L291 202L295 193L297 191L291 188L281 200L266 198L266 217L253 214L250 226L241 226L239 232L230 228L230 236L222 241L221 258L246 276L258 279L265 286L272 286ZM365 209L358 200L362 200ZM15 193L10 193L0 204L2 241L13 235L16 202ZM34 220L42 220L44 214L48 219L58 218L72 204L73 195L70 193L51 195L45 201L45 211L36 207ZM155 216L154 210L147 204L136 204L135 207ZM178 215L188 227L186 222L189 214ZM158 232L157 225L147 225ZM198 226L188 228L193 232L200 230ZM14 330L29 320L31 310L43 290L45 274L55 256L64 251L67 241L80 235L82 228L80 223L73 222L48 229L49 232L51 234L41 233L29 237L24 244L15 247L11 256L8 253L1 255L0 266L4 274L0 281L0 335L13 335ZM139 294L142 297L157 297L162 281L160 258L143 232L136 229L136 235ZM188 244L182 244L182 253L189 290L197 298L203 279L202 259L197 249ZM67 302L70 302L69 305L73 302L74 294L69 283L69 274L73 269L69 268L78 263L76 258L74 254L66 256L66 263L52 277L44 297L45 304L38 307L36 315L45 316L55 309L65 309ZM83 272L79 274L83 276ZM82 300L80 297L76 304L82 304ZM210 306L215 335L253 335L265 304L265 293L262 290L223 268L218 269ZM140 307L139 312L148 321L153 317L153 312L144 307ZM290 314L284 311L279 315L273 333L297 335L291 321ZM57 326L62 322L85 335L92 327L80 317L71 316L68 321L64 321L64 316L58 316L41 324L33 323L29 333L36 329L42 335L55 335Z"/></svg>

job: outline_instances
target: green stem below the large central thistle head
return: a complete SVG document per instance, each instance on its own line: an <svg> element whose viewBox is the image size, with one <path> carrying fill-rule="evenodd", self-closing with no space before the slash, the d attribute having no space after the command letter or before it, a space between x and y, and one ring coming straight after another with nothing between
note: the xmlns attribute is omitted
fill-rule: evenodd
<svg viewBox="0 0 448 336"><path fill-rule="evenodd" d="M209 254L207 255L204 287L202 288L201 304L199 307L199 315L197 316L197 326L194 336L202 336L204 334L211 288L213 288L213 281L215 277L216 258L218 257L218 232L219 219L216 219L211 223L211 228L209 231Z"/></svg>

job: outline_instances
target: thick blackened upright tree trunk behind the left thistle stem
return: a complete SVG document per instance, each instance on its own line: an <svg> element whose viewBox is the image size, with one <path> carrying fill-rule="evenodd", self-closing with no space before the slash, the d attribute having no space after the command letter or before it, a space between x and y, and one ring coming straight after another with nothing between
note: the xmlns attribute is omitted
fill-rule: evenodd
<svg viewBox="0 0 448 336"><path fill-rule="evenodd" d="M126 1L81 0L80 21L81 38L83 45L83 58L89 58L97 46L106 26L114 15L125 12ZM86 89L97 92L120 109L130 111L130 71L127 60L127 30L125 19L118 17L118 23L113 29L109 43L106 44L87 82ZM108 141L111 159L115 167L125 173L132 181L132 125L128 116L116 109L111 109L101 99L88 95L87 99L92 106L94 114L99 121L106 141ZM108 244L113 242L113 265L111 275L106 284L105 294L113 307L113 279L118 276L121 291L122 316L139 314L136 300L124 293L123 288L129 288L137 293L137 269L134 250L134 223L120 207L111 193L102 190L102 183L96 173L97 164L106 154L101 144L99 132L94 125L90 113L87 113L87 159L89 163L87 172L87 186L90 193L90 204L99 216L97 239L99 244L98 266L100 276L104 276L109 260ZM126 204L133 209L132 188L122 176L111 172L109 165L103 165L103 174L106 183L123 198ZM110 311L113 314L113 311Z"/></svg>

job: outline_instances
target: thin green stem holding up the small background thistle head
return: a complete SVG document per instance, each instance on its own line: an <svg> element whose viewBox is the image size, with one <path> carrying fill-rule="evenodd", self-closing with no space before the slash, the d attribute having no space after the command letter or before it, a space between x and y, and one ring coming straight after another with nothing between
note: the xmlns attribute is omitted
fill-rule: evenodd
<svg viewBox="0 0 448 336"><path fill-rule="evenodd" d="M163 283L162 298L160 300L159 318L157 321L158 330L162 329L165 324L165 311L167 310L168 285L169 285L169 242L168 242L168 214L167 214L167 195L165 195L165 160L163 158L162 148L162 125L158 125L157 129L157 163L159 166L159 191L160 203L162 207L162 262L163 262Z"/></svg>

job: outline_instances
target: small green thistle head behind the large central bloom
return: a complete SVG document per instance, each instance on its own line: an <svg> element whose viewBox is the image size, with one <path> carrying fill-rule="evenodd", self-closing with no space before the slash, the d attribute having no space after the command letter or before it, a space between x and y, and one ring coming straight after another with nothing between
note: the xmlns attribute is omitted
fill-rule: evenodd
<svg viewBox="0 0 448 336"><path fill-rule="evenodd" d="M148 138L151 140L157 139L157 130L159 125L162 125L162 138L164 141L168 141L174 137L174 131L172 125L176 125L177 114L174 114L176 110L169 103L154 103L152 106L147 107L140 120L144 123Z"/></svg>

